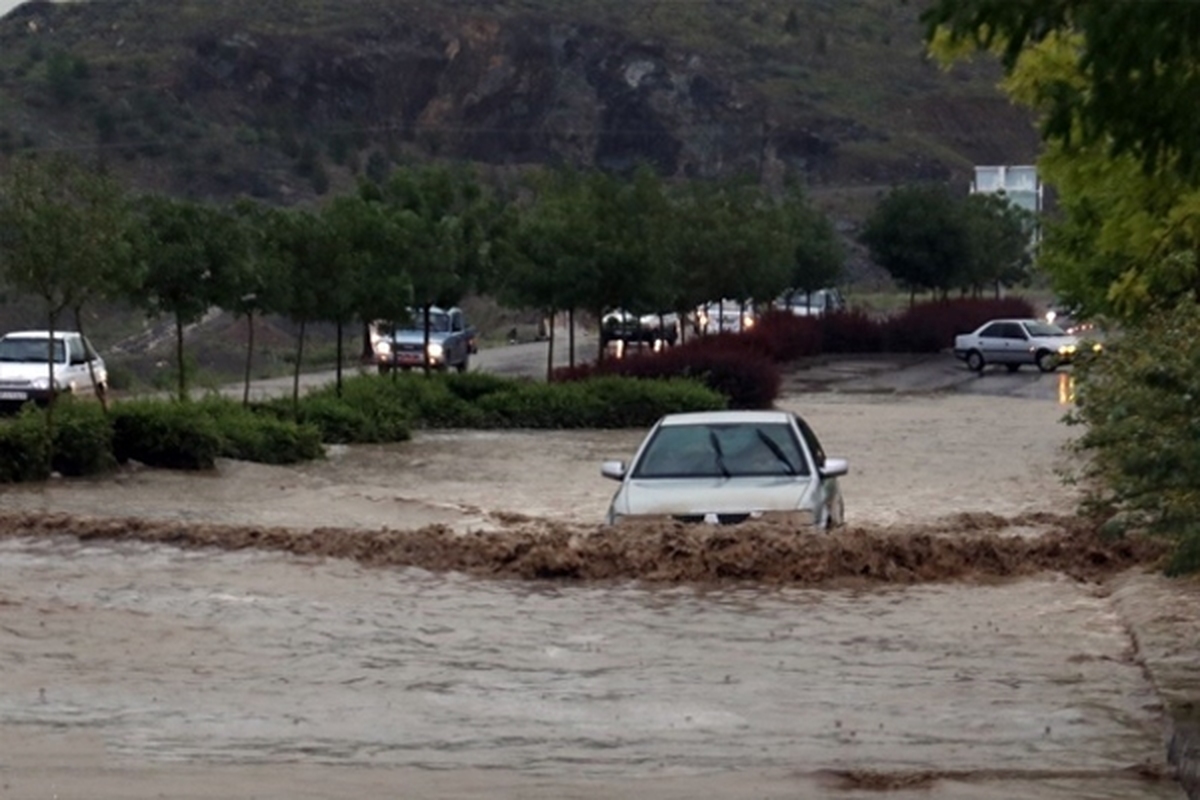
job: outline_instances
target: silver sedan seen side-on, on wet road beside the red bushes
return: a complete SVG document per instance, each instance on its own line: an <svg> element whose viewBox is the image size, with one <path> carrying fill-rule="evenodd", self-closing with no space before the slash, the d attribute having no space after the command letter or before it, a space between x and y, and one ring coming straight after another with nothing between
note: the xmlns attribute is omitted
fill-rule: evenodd
<svg viewBox="0 0 1200 800"><path fill-rule="evenodd" d="M1040 319L994 319L954 337L954 355L976 372L989 363L1002 363L1009 372L1022 363L1054 372L1058 365L1070 363L1079 348L1076 336Z"/></svg>

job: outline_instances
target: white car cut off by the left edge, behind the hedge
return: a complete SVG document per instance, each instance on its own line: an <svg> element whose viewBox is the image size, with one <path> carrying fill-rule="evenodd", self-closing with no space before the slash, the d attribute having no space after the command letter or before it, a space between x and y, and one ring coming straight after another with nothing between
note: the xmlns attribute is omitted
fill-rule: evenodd
<svg viewBox="0 0 1200 800"><path fill-rule="evenodd" d="M56 392L108 390L108 369L91 343L74 331L54 331L53 385L48 331L13 331L0 338L0 403L44 403ZM90 367L89 367L90 363Z"/></svg>

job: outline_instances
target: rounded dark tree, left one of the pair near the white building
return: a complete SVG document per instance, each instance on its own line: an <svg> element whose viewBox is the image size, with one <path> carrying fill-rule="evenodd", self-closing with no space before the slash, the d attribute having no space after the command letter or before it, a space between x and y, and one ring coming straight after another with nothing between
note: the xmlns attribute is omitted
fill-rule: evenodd
<svg viewBox="0 0 1200 800"><path fill-rule="evenodd" d="M971 258L960 204L940 184L889 192L868 216L862 240L911 300L919 290L948 291Z"/></svg>

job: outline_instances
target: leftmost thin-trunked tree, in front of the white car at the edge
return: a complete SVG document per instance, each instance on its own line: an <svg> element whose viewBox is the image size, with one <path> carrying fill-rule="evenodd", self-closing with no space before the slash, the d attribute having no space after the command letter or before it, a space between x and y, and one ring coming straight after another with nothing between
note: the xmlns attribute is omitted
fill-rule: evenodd
<svg viewBox="0 0 1200 800"><path fill-rule="evenodd" d="M64 311L83 332L83 307L130 269L128 217L120 186L67 156L19 158L0 185L0 264L7 282L36 296L49 330L47 371L54 386L54 331ZM104 401L103 386L91 375ZM53 393L47 426L53 425Z"/></svg>

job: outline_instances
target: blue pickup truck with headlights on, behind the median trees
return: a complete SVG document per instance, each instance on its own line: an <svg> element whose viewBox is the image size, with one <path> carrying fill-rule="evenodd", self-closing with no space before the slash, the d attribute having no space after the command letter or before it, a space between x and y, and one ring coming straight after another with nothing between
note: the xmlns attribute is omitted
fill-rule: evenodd
<svg viewBox="0 0 1200 800"><path fill-rule="evenodd" d="M370 326L371 353L379 373L425 366L425 314L409 311L409 320L398 325L376 321ZM430 309L430 366L467 372L470 356L478 351L475 329L467 325L461 308Z"/></svg>

